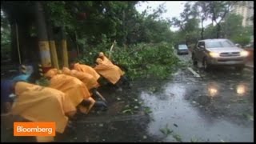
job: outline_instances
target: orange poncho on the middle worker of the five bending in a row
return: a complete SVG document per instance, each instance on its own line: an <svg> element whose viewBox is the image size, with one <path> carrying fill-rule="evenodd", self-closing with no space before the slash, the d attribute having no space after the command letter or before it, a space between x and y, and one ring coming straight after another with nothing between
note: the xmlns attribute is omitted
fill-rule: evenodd
<svg viewBox="0 0 256 144"><path fill-rule="evenodd" d="M94 78L94 76L92 76L91 74L83 73L78 70L70 70L67 67L62 68L62 74L70 75L80 79L80 81L82 81L86 85L88 90L94 87L97 88L99 86L97 79Z"/></svg>

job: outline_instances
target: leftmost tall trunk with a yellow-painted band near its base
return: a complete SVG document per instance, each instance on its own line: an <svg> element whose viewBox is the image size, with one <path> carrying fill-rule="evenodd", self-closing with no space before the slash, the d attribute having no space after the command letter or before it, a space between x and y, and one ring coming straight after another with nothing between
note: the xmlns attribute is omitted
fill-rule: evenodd
<svg viewBox="0 0 256 144"><path fill-rule="evenodd" d="M35 6L36 18L38 23L38 45L41 54L42 69L43 72L46 72L52 66L50 61L50 46L46 30L46 21L41 2L35 2Z"/></svg>

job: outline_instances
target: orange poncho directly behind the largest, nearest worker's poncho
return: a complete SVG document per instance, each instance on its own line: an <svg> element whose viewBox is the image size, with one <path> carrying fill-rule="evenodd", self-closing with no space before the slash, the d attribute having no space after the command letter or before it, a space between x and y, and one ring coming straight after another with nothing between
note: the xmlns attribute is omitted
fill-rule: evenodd
<svg viewBox="0 0 256 144"><path fill-rule="evenodd" d="M88 114L92 106L94 106L94 99L91 98L91 94L86 85L78 78L74 78L66 74L58 74L57 69L51 69L46 73L46 77L50 77L50 87L61 90L71 100L74 106L78 106L82 100L89 100L90 106L84 107L79 105L79 109L82 113Z"/></svg>

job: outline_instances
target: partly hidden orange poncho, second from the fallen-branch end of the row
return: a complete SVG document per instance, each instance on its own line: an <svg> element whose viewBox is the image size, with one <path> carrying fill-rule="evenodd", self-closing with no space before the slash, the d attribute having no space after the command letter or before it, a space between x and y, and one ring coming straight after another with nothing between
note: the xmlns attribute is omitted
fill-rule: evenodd
<svg viewBox="0 0 256 144"><path fill-rule="evenodd" d="M94 78L96 80L98 80L98 78L100 78L101 76L94 70L94 68L87 66L87 65L82 65L79 63L75 63L74 64L74 70L78 70L81 72L84 72L86 74L91 74L92 76L94 76Z"/></svg>

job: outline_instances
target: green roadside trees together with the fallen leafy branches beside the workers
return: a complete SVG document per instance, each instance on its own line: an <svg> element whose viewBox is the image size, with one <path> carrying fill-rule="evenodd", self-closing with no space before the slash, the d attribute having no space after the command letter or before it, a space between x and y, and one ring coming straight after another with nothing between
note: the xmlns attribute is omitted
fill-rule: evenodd
<svg viewBox="0 0 256 144"><path fill-rule="evenodd" d="M185 43L190 48L198 39L230 38L245 46L254 35L253 26L243 27L242 16L231 13L236 5L243 2L186 2L182 13L172 19L162 18L166 12L164 4L152 13L148 7L138 13L136 6L142 2L42 2L47 26L52 26L56 42L59 64L62 67L62 30L65 31L68 51L78 52L78 57L70 57L78 62L94 66L98 52L110 56L110 46L115 41L111 60L126 71L130 79L167 78L175 66L186 66L175 57L174 48ZM23 6L24 5L24 6ZM27 5L27 6L26 6ZM31 43L38 37L38 30L31 22L35 20L22 13L34 10L34 2L19 5L4 2L1 6L1 58L18 63L15 25L10 21L20 17L18 26L22 62L34 57L30 51L36 45ZM10 13L17 14L12 15ZM17 19L17 18L16 18ZM212 24L203 26L202 22ZM171 31L176 26L178 31ZM26 38L25 38L26 36ZM25 55L25 56L24 56ZM34 60L32 61L34 62Z"/></svg>

